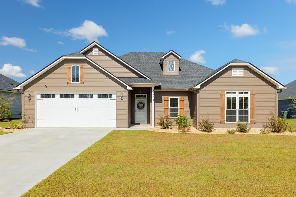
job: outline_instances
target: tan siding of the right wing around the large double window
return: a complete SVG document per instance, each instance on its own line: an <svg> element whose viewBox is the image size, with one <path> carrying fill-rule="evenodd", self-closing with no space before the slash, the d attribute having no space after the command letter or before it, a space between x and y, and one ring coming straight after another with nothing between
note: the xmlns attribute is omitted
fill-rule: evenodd
<svg viewBox="0 0 296 197"><path fill-rule="evenodd" d="M243 68L244 76L232 76L232 68ZM220 91L255 91L255 124L262 128L270 111L277 112L276 86L247 66L229 66L201 85L198 94L198 120L209 115L215 128L235 128L236 123L220 123Z"/></svg>

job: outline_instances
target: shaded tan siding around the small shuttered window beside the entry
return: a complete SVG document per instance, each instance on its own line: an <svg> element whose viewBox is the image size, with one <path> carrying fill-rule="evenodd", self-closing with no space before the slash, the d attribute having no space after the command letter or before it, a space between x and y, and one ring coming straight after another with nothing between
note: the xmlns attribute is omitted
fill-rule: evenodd
<svg viewBox="0 0 296 197"><path fill-rule="evenodd" d="M193 98L192 91L155 91L155 126L159 114L163 115L163 98L164 97L184 97L184 114L192 122L193 118Z"/></svg>

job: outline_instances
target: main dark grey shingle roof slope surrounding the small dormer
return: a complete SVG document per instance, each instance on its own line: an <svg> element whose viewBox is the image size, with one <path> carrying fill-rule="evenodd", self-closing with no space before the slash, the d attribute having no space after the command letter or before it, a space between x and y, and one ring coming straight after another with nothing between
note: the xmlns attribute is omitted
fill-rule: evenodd
<svg viewBox="0 0 296 197"><path fill-rule="evenodd" d="M120 58L149 76L153 82L160 83L162 89L188 89L197 81L204 79L204 76L213 72L213 69L185 59L180 59L180 75L163 75L159 61L160 57L165 54L166 53L131 52L120 56Z"/></svg>

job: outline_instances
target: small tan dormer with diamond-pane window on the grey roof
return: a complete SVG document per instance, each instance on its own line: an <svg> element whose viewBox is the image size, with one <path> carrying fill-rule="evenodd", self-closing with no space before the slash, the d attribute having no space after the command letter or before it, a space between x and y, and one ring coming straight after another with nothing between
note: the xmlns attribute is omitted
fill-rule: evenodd
<svg viewBox="0 0 296 197"><path fill-rule="evenodd" d="M181 58L173 50L161 56L159 64L163 69L163 75L179 75L179 61Z"/></svg>

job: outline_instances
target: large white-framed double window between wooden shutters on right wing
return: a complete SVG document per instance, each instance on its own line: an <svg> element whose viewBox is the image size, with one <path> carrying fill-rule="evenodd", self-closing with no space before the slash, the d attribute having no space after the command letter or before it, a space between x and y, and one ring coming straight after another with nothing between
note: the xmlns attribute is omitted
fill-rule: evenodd
<svg viewBox="0 0 296 197"><path fill-rule="evenodd" d="M249 122L250 92L226 92L226 123Z"/></svg>

